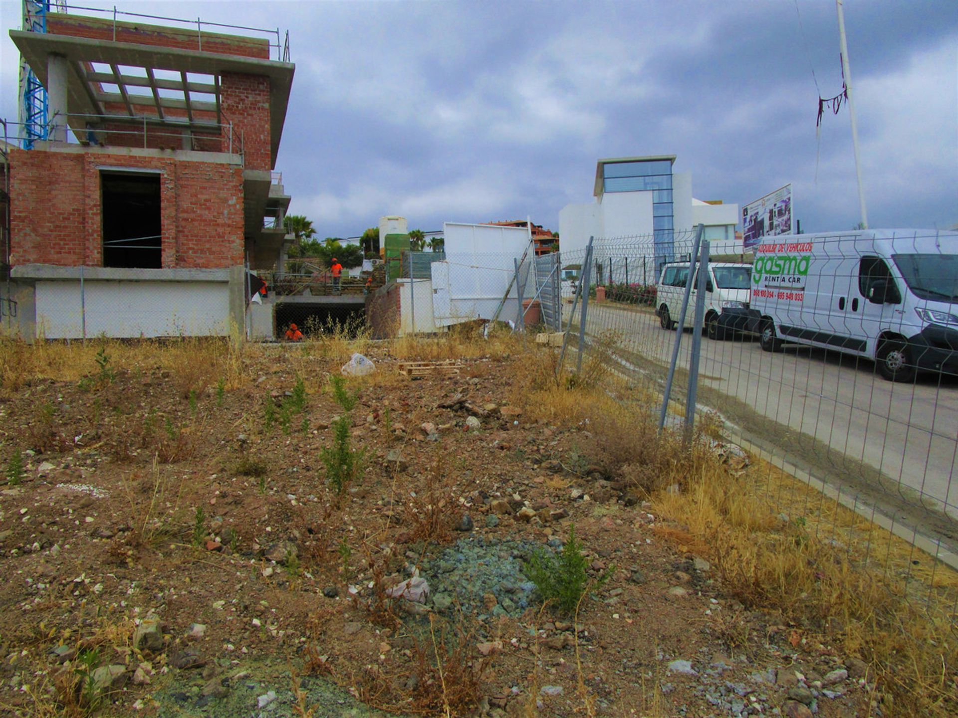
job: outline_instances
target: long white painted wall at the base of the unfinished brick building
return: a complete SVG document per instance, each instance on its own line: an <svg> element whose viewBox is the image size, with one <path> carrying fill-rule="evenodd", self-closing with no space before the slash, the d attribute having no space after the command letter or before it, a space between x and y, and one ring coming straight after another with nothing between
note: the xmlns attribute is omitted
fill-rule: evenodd
<svg viewBox="0 0 958 718"><path fill-rule="evenodd" d="M224 281L86 281L86 336L225 336L229 285ZM36 334L80 339L79 281L37 281Z"/></svg>

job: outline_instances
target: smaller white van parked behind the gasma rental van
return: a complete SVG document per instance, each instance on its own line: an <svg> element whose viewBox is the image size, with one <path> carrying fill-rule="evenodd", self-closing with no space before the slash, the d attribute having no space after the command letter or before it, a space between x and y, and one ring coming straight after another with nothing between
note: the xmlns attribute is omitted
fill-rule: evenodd
<svg viewBox="0 0 958 718"><path fill-rule="evenodd" d="M722 309L744 309L748 305L751 271L751 264L709 262L709 274L705 280L705 330L710 339L721 339L725 334L725 330L719 325ZM689 296L689 308L685 313L686 326L692 326L696 319L697 277L696 271ZM659 324L663 329L674 328L682 309L685 282L688 279L688 262L672 262L662 268L656 286L655 301L658 304Z"/></svg>

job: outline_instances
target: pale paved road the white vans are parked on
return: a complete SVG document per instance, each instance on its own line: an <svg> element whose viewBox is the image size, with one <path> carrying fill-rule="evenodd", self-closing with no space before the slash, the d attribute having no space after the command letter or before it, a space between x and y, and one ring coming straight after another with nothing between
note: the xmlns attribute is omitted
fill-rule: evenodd
<svg viewBox="0 0 958 718"><path fill-rule="evenodd" d="M567 318L569 305L564 306ZM590 335L619 330L627 351L668 366L675 332L662 329L651 312L590 303L588 329ZM689 366L691 346L692 333L686 330L683 368ZM776 430L783 442L782 428L818 439L852 459L846 468L858 460L911 489L914 493L903 492L907 503L920 499L958 517L958 480L952 482L958 474L958 379L929 374L915 384L896 384L878 376L873 362L837 352L791 346L768 353L754 340L705 337L699 376L700 387L715 390L704 389L703 402L719 413L741 406L726 402L723 407L722 395L755 413L738 412L747 430L769 428L755 422L771 419L782 425ZM834 456L830 460L834 463ZM859 465L857 473L867 472Z"/></svg>

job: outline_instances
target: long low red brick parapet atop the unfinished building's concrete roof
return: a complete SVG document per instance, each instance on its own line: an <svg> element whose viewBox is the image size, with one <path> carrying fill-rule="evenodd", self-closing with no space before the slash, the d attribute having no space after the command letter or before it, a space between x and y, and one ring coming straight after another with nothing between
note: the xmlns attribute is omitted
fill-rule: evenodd
<svg viewBox="0 0 958 718"><path fill-rule="evenodd" d="M159 21L157 21L159 22ZM146 23L118 22L114 36L112 19L82 15L63 15L54 12L47 14L47 33L66 34L73 37L89 37L95 40L114 40L117 42L135 42L139 45L157 45L159 47L180 50L200 49L204 53L217 55L238 55L269 59L269 43L266 37L241 37L239 35L196 34L195 28L173 28L148 25Z"/></svg>

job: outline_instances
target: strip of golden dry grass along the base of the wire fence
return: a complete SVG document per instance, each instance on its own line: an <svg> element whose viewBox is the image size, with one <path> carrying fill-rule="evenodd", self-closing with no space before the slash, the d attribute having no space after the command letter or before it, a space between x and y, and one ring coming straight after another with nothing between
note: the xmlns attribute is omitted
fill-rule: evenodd
<svg viewBox="0 0 958 718"><path fill-rule="evenodd" d="M886 713L958 715L954 572L761 461L733 471L701 433L692 448L658 435L642 410L613 398L624 393L616 377L605 377L604 391L570 388L550 378L552 362L533 354L518 363L526 381L517 389L531 389L526 407L587 427L594 443L585 452L650 493L665 520L660 535L708 557L743 604L781 612L810 645L869 663ZM681 491L662 490L673 484ZM741 640L735 626L728 633ZM652 711L659 700L653 694Z"/></svg>

